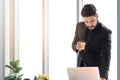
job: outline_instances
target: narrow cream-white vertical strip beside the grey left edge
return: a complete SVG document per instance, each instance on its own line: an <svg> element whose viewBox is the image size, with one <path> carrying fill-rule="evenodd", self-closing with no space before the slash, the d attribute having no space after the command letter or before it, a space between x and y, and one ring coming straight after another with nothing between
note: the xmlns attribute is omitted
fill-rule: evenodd
<svg viewBox="0 0 120 80"><path fill-rule="evenodd" d="M4 64L9 64L10 60L10 1L4 0ZM5 76L9 69L5 68Z"/></svg>

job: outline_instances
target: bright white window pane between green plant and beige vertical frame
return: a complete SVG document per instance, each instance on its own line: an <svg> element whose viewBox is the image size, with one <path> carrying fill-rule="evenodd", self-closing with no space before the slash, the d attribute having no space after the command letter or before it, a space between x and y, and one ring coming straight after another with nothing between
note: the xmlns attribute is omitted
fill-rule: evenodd
<svg viewBox="0 0 120 80"><path fill-rule="evenodd" d="M19 1L19 57L23 78L42 73L42 0Z"/></svg>

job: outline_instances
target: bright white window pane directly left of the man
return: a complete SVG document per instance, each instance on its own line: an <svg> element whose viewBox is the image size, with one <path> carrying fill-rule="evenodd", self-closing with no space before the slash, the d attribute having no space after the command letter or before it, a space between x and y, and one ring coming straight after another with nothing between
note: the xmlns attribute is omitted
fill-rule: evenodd
<svg viewBox="0 0 120 80"><path fill-rule="evenodd" d="M67 67L76 67L72 40L77 23L76 0L49 0L49 75L68 80Z"/></svg>

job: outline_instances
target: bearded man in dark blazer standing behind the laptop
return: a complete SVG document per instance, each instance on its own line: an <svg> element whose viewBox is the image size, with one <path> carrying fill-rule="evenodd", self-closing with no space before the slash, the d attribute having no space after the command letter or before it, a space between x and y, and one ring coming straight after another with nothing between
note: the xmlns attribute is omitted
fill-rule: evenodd
<svg viewBox="0 0 120 80"><path fill-rule="evenodd" d="M101 80L108 80L112 32L99 22L96 11L93 4L82 8L84 21L77 23L72 49L78 53L77 67L97 66Z"/></svg>

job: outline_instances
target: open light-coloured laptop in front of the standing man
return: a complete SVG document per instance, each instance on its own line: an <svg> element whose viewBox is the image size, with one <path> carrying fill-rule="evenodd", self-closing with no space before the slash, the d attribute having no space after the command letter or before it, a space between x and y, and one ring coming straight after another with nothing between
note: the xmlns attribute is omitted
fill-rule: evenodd
<svg viewBox="0 0 120 80"><path fill-rule="evenodd" d="M69 67L69 80L100 80L98 67Z"/></svg>

